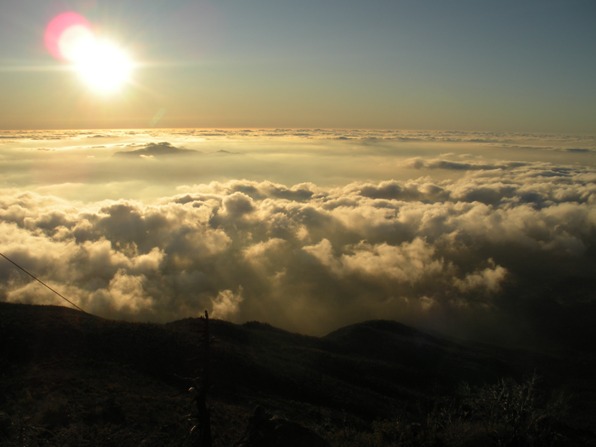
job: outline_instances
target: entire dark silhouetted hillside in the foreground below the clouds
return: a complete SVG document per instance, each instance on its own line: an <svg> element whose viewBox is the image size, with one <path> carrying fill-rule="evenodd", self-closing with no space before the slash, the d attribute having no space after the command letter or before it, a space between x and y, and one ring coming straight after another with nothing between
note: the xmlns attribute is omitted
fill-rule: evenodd
<svg viewBox="0 0 596 447"><path fill-rule="evenodd" d="M294 444L259 443L263 414L333 446L596 445L590 353L473 345L391 321L325 337L257 322L208 331L204 318L140 324L0 303L0 444L192 445L188 389L207 377L215 446L312 445L290 429Z"/></svg>

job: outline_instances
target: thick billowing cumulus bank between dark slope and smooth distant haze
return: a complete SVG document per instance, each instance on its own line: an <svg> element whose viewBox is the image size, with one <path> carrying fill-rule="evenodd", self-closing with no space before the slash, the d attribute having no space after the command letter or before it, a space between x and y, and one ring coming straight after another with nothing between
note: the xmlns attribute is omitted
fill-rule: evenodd
<svg viewBox="0 0 596 447"><path fill-rule="evenodd" d="M437 164L446 159L467 165ZM106 317L171 321L207 309L317 334L393 318L519 342L596 316L593 167L467 155L414 167L425 175L334 185L235 178L145 200L5 188L0 247ZM458 175L430 175L437 167ZM8 263L0 297L63 304ZM589 330L573 327L578 337Z"/></svg>

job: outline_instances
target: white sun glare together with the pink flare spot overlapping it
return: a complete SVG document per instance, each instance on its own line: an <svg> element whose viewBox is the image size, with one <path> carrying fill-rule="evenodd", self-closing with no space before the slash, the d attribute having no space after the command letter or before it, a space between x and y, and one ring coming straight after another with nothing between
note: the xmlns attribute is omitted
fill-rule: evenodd
<svg viewBox="0 0 596 447"><path fill-rule="evenodd" d="M55 17L46 28L45 41L50 53L70 63L95 93L118 92L130 81L133 62L127 52L115 42L96 36L77 13Z"/></svg>

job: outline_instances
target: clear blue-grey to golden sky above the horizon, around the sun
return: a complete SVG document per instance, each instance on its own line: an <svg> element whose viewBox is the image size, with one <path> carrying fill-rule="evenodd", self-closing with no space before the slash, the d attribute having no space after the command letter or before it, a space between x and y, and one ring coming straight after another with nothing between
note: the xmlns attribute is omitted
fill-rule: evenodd
<svg viewBox="0 0 596 447"><path fill-rule="evenodd" d="M72 11L134 61L117 94L44 44ZM0 128L596 132L592 0L4 0Z"/></svg>

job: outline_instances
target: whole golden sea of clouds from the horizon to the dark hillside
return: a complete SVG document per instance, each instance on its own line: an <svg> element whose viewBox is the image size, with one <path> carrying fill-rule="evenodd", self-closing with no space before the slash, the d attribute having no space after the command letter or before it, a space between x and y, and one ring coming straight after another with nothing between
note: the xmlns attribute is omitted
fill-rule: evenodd
<svg viewBox="0 0 596 447"><path fill-rule="evenodd" d="M582 343L596 139L463 132L4 132L0 252L86 311L324 334L395 319ZM0 300L65 304L0 259Z"/></svg>

